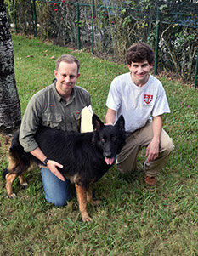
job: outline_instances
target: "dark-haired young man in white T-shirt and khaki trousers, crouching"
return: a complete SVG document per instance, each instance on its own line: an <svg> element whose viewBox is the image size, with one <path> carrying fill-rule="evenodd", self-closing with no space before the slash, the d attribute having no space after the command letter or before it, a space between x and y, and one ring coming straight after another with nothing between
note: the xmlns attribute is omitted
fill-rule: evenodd
<svg viewBox="0 0 198 256"><path fill-rule="evenodd" d="M150 75L154 53L145 43L134 43L127 50L128 73L116 77L106 101L105 122L114 124L125 118L127 143L117 156L116 166L122 173L137 168L137 156L146 148L143 164L144 182L156 185L156 175L173 151L172 139L162 129L162 117L170 109L161 82Z"/></svg>

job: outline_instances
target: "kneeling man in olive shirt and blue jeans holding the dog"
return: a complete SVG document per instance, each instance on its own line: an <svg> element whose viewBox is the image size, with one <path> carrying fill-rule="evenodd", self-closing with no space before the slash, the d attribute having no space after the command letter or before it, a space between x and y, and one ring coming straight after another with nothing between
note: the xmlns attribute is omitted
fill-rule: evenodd
<svg viewBox="0 0 198 256"><path fill-rule="evenodd" d="M85 89L76 86L79 68L80 62L74 56L60 56L54 71L56 81L32 96L20 126L20 144L25 152L46 165L41 169L45 198L56 206L63 206L70 199L70 182L57 169L63 166L44 155L34 136L40 125L80 131L81 111L91 105L91 99Z"/></svg>

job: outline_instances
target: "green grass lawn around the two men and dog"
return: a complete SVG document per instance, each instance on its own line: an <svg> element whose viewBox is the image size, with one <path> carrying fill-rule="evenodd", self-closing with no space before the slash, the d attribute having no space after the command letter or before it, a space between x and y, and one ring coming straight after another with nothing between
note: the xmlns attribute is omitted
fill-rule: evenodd
<svg viewBox="0 0 198 256"><path fill-rule="evenodd" d="M77 84L88 90L93 111L104 121L110 82L127 72L125 65L37 39L13 35L13 43L21 115L31 95L54 79L55 60L74 54L81 61ZM164 115L163 127L175 150L157 186L144 185L141 171L119 174L111 168L94 184L102 203L88 206L93 221L82 224L73 186L68 205L56 208L45 202L39 169L26 174L26 190L14 181L16 200L8 199L0 178L0 255L197 255L197 90L160 79L172 111ZM8 165L8 145L1 136L0 169ZM139 168L142 162L144 151Z"/></svg>

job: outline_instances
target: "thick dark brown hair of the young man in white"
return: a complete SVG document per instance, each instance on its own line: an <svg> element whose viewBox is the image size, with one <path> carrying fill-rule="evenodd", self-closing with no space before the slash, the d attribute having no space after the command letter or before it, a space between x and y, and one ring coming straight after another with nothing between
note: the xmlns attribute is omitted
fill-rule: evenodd
<svg viewBox="0 0 198 256"><path fill-rule="evenodd" d="M133 43L127 49L126 61L128 65L132 62L143 62L147 60L151 65L154 62L154 52L146 43Z"/></svg>

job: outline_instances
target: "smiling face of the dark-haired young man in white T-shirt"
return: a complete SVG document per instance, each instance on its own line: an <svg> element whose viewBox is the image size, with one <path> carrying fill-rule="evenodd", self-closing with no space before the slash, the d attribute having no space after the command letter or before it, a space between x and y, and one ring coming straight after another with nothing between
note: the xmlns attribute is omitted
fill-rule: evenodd
<svg viewBox="0 0 198 256"><path fill-rule="evenodd" d="M143 86L149 79L149 73L153 67L153 63L150 65L148 60L142 62L132 62L131 65L127 64L127 67L131 71L131 77L136 85Z"/></svg>

